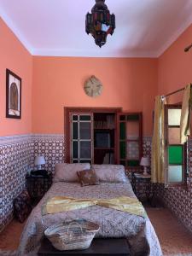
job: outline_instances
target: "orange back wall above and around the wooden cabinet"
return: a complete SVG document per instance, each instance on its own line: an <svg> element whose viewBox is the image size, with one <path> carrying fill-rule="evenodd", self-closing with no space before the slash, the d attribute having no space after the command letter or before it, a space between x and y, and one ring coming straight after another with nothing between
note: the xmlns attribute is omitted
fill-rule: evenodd
<svg viewBox="0 0 192 256"><path fill-rule="evenodd" d="M157 60L33 57L32 132L63 133L64 107L122 107L143 112L143 133L152 134ZM102 96L84 93L84 80L101 79Z"/></svg>

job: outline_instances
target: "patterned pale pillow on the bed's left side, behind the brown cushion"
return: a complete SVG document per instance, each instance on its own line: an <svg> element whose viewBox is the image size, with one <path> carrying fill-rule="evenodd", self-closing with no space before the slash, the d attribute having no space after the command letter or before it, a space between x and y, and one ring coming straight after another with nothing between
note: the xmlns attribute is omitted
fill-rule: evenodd
<svg viewBox="0 0 192 256"><path fill-rule="evenodd" d="M90 169L90 163L56 164L54 182L79 182L77 172Z"/></svg>

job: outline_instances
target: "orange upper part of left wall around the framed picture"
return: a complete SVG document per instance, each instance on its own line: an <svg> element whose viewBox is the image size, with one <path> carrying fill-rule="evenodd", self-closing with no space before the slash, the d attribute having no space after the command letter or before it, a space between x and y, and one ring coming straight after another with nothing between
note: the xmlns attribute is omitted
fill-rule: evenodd
<svg viewBox="0 0 192 256"><path fill-rule="evenodd" d="M32 55L0 18L0 136L32 131ZM5 118L6 68L22 79L21 119Z"/></svg>

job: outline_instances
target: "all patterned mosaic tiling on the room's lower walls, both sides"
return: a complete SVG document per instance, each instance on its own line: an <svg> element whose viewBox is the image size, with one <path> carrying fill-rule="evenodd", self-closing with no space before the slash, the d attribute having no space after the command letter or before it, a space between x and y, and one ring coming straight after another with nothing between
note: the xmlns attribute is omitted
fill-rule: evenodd
<svg viewBox="0 0 192 256"><path fill-rule="evenodd" d="M45 168L54 171L56 162L65 160L63 135L0 137L0 230L13 217L13 200L25 188L25 175L34 158L44 154ZM143 155L151 154L151 137L143 138ZM156 195L192 231L192 143L189 143L190 174L188 189L165 189L158 185Z"/></svg>

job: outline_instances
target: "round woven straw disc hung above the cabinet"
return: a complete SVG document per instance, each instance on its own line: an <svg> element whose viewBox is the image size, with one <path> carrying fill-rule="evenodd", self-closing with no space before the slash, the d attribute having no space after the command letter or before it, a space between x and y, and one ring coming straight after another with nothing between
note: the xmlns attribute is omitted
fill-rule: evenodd
<svg viewBox="0 0 192 256"><path fill-rule="evenodd" d="M91 76L90 79L84 82L84 91L90 97L100 96L102 93L102 82L96 79L95 76Z"/></svg>

